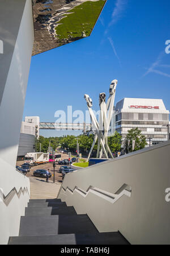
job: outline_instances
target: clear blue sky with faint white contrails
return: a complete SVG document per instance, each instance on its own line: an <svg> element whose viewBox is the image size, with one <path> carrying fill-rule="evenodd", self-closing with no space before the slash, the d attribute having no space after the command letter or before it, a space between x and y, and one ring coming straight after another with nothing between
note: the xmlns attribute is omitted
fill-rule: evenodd
<svg viewBox="0 0 170 256"><path fill-rule="evenodd" d="M32 57L23 118L39 115L41 122L55 122L54 113L66 111L67 105L85 112L85 93L98 110L99 93L108 96L113 79L118 80L115 102L124 97L162 98L170 110L167 40L169 0L108 0L90 37Z"/></svg>

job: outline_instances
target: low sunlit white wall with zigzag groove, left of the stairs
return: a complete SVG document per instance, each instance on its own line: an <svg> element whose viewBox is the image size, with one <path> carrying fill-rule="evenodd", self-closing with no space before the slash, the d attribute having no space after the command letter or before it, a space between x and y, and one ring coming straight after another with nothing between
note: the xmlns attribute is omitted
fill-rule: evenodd
<svg viewBox="0 0 170 256"><path fill-rule="evenodd" d="M19 234L20 216L24 215L30 197L30 183L28 177L2 160L0 172L0 245L2 245L8 242L10 236ZM14 188L16 192L12 192ZM25 192L18 195L20 188L25 189ZM10 198L6 199L9 193Z"/></svg>

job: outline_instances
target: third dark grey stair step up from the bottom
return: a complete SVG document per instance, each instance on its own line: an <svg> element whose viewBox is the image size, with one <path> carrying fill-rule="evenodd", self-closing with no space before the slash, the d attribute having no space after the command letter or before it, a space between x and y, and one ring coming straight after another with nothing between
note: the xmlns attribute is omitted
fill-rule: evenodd
<svg viewBox="0 0 170 256"><path fill-rule="evenodd" d="M25 216L50 216L76 214L74 207L25 207Z"/></svg>

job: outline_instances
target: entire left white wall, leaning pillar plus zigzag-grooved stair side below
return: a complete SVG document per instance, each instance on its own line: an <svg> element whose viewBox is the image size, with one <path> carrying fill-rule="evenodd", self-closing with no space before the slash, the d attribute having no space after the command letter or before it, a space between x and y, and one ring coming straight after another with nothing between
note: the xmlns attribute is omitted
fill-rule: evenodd
<svg viewBox="0 0 170 256"><path fill-rule="evenodd" d="M0 1L0 243L18 236L20 216L29 199L29 179L15 170L20 125L34 39L31 0ZM20 188L27 192L18 197ZM11 192L11 193L10 193ZM6 199L10 193L11 199ZM8 201L8 204L6 203ZM6 205L7 204L7 205Z"/></svg>

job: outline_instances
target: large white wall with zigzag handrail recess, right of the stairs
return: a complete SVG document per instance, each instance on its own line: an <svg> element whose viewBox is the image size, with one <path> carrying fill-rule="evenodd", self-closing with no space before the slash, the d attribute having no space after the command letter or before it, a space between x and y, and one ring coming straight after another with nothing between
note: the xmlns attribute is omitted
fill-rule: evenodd
<svg viewBox="0 0 170 256"><path fill-rule="evenodd" d="M119 230L132 244L170 244L169 151L164 142L81 168L65 176L58 198L87 213L99 232Z"/></svg>

